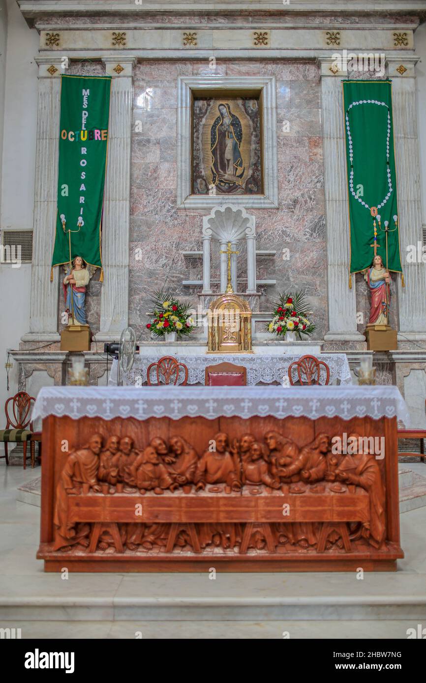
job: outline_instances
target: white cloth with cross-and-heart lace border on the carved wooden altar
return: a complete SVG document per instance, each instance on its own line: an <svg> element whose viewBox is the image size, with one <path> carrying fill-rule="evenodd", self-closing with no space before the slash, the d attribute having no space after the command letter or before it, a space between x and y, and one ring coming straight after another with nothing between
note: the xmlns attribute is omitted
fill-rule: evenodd
<svg viewBox="0 0 426 683"><path fill-rule="evenodd" d="M408 408L395 386L358 387L43 387L32 419L79 417L397 417Z"/></svg>

